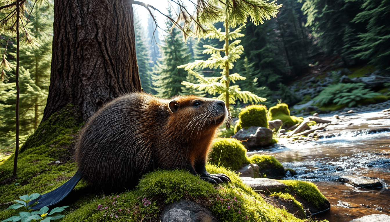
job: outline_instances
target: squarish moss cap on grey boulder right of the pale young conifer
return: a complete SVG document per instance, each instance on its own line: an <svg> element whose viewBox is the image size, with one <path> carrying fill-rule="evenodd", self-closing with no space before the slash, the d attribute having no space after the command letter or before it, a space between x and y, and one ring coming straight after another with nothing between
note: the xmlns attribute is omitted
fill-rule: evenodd
<svg viewBox="0 0 390 222"><path fill-rule="evenodd" d="M267 107L264 105L250 105L241 110L238 115L241 127L261 126L268 128Z"/></svg>

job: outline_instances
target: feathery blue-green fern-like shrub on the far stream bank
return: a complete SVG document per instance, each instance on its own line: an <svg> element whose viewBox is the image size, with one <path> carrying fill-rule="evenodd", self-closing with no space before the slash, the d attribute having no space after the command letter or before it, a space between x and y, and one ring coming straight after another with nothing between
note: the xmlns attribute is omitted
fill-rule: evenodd
<svg viewBox="0 0 390 222"><path fill-rule="evenodd" d="M353 107L357 105L358 101L380 95L371 89L364 89L364 86L364 83L339 83L326 87L314 99L318 100L320 106L346 104L348 107Z"/></svg>

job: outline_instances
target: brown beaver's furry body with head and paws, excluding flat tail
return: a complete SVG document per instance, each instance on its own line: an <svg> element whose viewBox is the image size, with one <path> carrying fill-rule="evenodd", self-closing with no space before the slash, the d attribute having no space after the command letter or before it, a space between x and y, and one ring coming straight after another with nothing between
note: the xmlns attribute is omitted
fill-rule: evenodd
<svg viewBox="0 0 390 222"><path fill-rule="evenodd" d="M230 182L205 167L217 128L228 116L221 100L126 94L88 119L76 143L78 171L107 192L131 189L155 168L185 169L213 184Z"/></svg>

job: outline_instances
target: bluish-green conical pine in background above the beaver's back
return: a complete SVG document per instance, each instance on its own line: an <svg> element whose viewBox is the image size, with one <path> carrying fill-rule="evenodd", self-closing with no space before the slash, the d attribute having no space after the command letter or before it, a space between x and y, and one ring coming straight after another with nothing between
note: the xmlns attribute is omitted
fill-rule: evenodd
<svg viewBox="0 0 390 222"><path fill-rule="evenodd" d="M168 9L168 14L172 17L172 10ZM181 82L185 81L188 72L177 66L190 61L191 55L188 52L186 43L183 42L180 30L172 27L173 23L169 19L166 21L168 29L165 37L165 44L161 46L162 58L157 63L155 70L154 86L157 87L157 96L163 98L170 98L177 94L183 93L183 85Z"/></svg>

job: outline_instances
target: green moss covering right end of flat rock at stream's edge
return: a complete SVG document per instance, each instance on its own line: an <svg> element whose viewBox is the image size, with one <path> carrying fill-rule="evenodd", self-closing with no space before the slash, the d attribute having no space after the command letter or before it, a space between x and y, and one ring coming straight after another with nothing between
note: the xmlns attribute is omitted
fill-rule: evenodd
<svg viewBox="0 0 390 222"><path fill-rule="evenodd" d="M317 186L312 182L299 180L279 180L287 185L287 192L290 194L299 194L303 199L313 203L318 207L321 203L328 201L326 197L321 194Z"/></svg>

